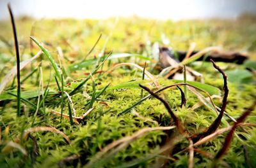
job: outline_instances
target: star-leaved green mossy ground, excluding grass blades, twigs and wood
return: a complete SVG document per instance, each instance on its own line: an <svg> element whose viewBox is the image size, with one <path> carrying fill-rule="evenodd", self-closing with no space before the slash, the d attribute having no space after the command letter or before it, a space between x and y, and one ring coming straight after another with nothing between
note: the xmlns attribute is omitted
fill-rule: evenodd
<svg viewBox="0 0 256 168"><path fill-rule="evenodd" d="M29 35L33 34L36 39L44 42L45 48L47 48L56 62L58 62L56 47L60 46L63 50L65 57L63 67L67 70L72 67L76 62L80 62L86 53L92 48L96 39L102 32L102 39L99 44L93 50L92 54L87 59L92 59L99 55L100 51L104 47L106 38L113 31L112 36L109 36L109 43L106 47L106 54L113 50L113 53L141 53L146 54L148 47L152 43L158 41L163 43L164 39L170 40L170 46L175 50L188 50L189 43L195 42L197 44L196 50L202 50L207 46L221 45L225 50L246 50L251 55L250 59L255 60L256 45L255 45L255 31L256 24L252 22L253 18L240 18L240 20L209 20L209 21L182 21L182 22L163 22L156 20L146 20L142 18L122 18L118 22L115 28L113 28L114 19L109 20L40 20L33 23L30 19L17 20L17 31L19 34L20 50L22 60L26 60L30 57L30 53L36 53L39 49L36 46L29 47ZM7 43L12 46L12 32L10 31L9 22L1 23L0 34L4 39L8 39ZM33 31L31 31L33 27ZM32 32L32 33L31 33ZM13 57L14 51L12 47L6 46L7 43L0 43L0 57L1 57L1 74L0 78L3 79L9 69L15 65L15 57ZM149 44L149 45L148 45ZM144 46L144 47L143 47ZM29 49L30 48L30 49ZM150 55L150 53L149 53ZM145 60L141 59L115 59L111 62L104 64L103 70L106 71L113 67L118 62L136 62L143 65ZM31 72L31 68L35 68L38 61L33 62L31 67L26 67L21 71L21 77L26 76ZM150 70L150 62L146 69ZM218 63L217 63L218 64ZM225 71L232 69L244 69L244 66L237 66L236 64L219 64ZM81 67L77 71L69 71L65 79L71 83L70 86L65 87L68 92L72 88L77 86L79 81L88 76L88 73L92 71L95 64L89 64L88 66ZM204 76L206 84L220 88L222 90L223 80L221 75L211 66L209 62L200 62L198 64L191 64L191 67L200 72ZM58 87L54 80L54 71L51 70L51 64L43 57L42 58L42 72L44 74L44 88L49 83L49 89L58 92ZM157 73L154 73L157 75ZM93 80L95 81L95 88L97 92L102 88L109 85L99 99L93 103L93 111L86 116L85 120L78 125L70 125L70 121L63 118L60 120L60 116L50 113L51 110L61 111L60 98L52 99L51 95L47 96L44 102L45 113L40 113L34 117L35 108L31 105L22 103L22 116L17 116L16 101L5 101L5 104L0 108L1 110L1 150L6 146L5 142L15 141L20 139L22 132L31 127L54 127L61 132L65 133L71 143L67 144L67 141L63 139L60 134L54 134L52 132L35 132L31 133L35 137L37 148L36 157L33 158L33 141L28 139L20 142L20 146L28 152L28 156L20 153L19 150L8 150L7 152L1 152L0 154L0 167L83 167L91 160L96 153L101 151L105 146L125 136L131 136L132 133L141 130L145 127L159 127L173 125L173 121L168 111L164 108L163 104L157 99L150 98L143 101L140 105L136 106L129 113L121 114L126 108L132 106L132 104L140 101L141 88L118 88L111 89L111 87L120 85L120 83L128 83L132 80L141 80L141 71L134 69L133 67L121 67L116 69L110 74L94 74ZM22 90L38 90L40 81L40 73L37 71L33 76L30 76L22 84ZM159 78L158 80L161 86L171 85L175 83L172 80L164 80ZM148 84L145 84L150 86ZM9 87L11 84L9 85ZM15 86L15 84L13 85ZM89 80L84 85L84 92L92 96L93 83ZM10 90L6 88L6 90ZM228 82L228 88L230 90L228 95L228 104L226 111L230 116L238 118L255 100L255 78L250 83L237 83ZM82 90L82 91L83 91ZM83 92L79 92L72 96L74 102L74 108L76 109L77 116L83 115L88 110L88 103L90 99L84 96ZM206 106L202 106L195 110L192 109L193 105L200 100L196 95L188 92L186 108L180 108L180 92L177 88L168 89L164 93L169 97L168 102L172 107L174 113L184 123L184 126L189 133L202 132L207 128L216 118L216 113L209 110ZM147 95L144 90L143 96ZM40 96L42 99L42 96ZM36 105L38 97L31 98L29 101ZM221 106L221 99L214 99L217 106ZM64 113L68 115L67 99L65 100ZM135 112L134 112L135 111ZM139 114L139 116L138 116ZM33 122L35 118L35 121ZM230 125L233 122L223 117ZM255 123L256 112L251 113L246 122ZM32 125L33 123L33 125ZM221 127L227 127L227 123L222 122ZM223 160L227 162L230 167L246 167L248 166L249 159L252 165L256 165L255 147L256 147L256 129L255 127L245 127L244 129L238 128L236 134L232 140L231 146L224 156ZM172 131L170 131L172 132ZM140 137L136 141L133 141L123 150L120 150L115 155L108 155L102 157L99 161L100 167L118 167L123 165L124 167L128 163L138 161L137 165L133 167L150 167L154 164L156 158L154 153L160 150L164 141L170 133L168 131L156 130L149 132L145 136ZM216 139L209 141L199 146L201 150L207 151L212 155L216 153L223 146L227 132ZM179 144L175 147L175 151L182 150L188 147L188 141L181 139ZM244 150L246 149L246 150ZM246 157L246 153L248 156ZM76 160L70 160L65 164L60 164L61 160L70 157L72 155L79 155ZM144 158L147 158L143 160ZM175 155L176 161L168 160L168 166L170 167L186 167L188 166L188 152L179 153ZM204 157L198 153L195 153L194 165L195 167L208 167L212 164L212 159ZM97 165L97 164L95 164Z"/></svg>

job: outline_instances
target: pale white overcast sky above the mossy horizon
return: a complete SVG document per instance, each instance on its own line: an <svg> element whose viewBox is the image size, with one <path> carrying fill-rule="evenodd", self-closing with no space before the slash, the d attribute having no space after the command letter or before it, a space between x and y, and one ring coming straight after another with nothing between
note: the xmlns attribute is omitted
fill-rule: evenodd
<svg viewBox="0 0 256 168"><path fill-rule="evenodd" d="M0 0L0 20L9 19L7 3L15 17L108 18L140 17L161 20L236 18L256 14L256 0Z"/></svg>

